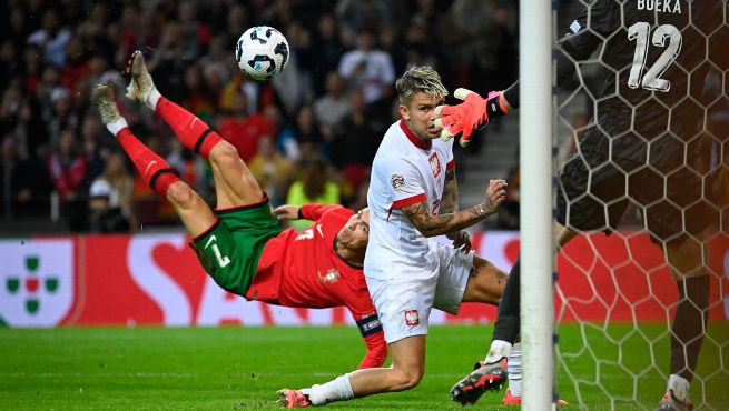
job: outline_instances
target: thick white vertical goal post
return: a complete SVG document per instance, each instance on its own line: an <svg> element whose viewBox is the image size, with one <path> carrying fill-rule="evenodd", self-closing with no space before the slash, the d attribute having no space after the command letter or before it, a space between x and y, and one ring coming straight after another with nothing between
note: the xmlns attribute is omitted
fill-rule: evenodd
<svg viewBox="0 0 729 411"><path fill-rule="evenodd" d="M519 11L522 407L550 410L554 384L552 1Z"/></svg>

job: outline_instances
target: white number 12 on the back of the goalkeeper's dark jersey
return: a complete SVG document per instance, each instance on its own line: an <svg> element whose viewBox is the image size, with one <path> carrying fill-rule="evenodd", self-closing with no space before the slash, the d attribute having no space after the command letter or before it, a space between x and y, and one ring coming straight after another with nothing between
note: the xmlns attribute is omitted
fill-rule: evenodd
<svg viewBox="0 0 729 411"><path fill-rule="evenodd" d="M636 40L636 53L633 54L633 64L630 68L630 77L628 78L628 87L637 89L641 86L647 90L654 91L669 91L671 82L661 79L661 74L668 67L676 60L681 52L681 32L676 26L661 24L653 31L653 46L666 47L666 51L656 60L652 67L643 74L643 80L640 76L646 66L646 56L648 54L648 38L650 37L650 24L647 22L637 22L628 29L628 39ZM666 39L670 39L666 46Z"/></svg>

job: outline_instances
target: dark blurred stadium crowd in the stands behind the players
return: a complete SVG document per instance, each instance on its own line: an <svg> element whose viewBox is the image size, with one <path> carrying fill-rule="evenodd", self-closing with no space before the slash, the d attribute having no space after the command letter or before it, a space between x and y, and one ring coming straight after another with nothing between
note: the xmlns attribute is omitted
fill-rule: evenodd
<svg viewBox="0 0 729 411"><path fill-rule="evenodd" d="M247 79L233 53L256 24L278 28L290 47L286 70L267 82ZM378 139L398 117L400 73L431 64L450 90L485 92L518 71L516 10L502 0L9 0L0 32L0 215L47 221L58 203L77 232L177 223L89 102L100 82L124 92L135 49L147 50L164 94L238 149L274 204L355 210ZM135 134L211 201L209 164L120 102Z"/></svg>

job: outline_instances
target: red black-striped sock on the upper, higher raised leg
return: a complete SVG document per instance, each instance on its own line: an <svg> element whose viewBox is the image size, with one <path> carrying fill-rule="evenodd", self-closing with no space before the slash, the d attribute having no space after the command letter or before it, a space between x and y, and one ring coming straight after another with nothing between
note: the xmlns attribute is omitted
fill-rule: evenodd
<svg viewBox="0 0 729 411"><path fill-rule="evenodd" d="M164 97L159 98L155 111L175 131L185 147L206 159L215 144L223 140L203 120Z"/></svg>

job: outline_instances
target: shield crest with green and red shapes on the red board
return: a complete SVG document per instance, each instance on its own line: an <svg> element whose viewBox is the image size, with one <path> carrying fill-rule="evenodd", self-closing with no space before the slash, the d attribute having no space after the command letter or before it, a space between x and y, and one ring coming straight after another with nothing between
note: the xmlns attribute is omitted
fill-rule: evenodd
<svg viewBox="0 0 729 411"><path fill-rule="evenodd" d="M9 327L55 327L73 303L70 240L0 241L0 320Z"/></svg>

